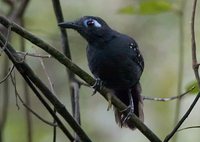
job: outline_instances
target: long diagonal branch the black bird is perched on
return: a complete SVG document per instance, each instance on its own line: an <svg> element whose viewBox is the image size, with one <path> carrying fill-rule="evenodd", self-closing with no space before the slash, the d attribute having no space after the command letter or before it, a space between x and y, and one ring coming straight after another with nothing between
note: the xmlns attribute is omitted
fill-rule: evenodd
<svg viewBox="0 0 200 142"><path fill-rule="evenodd" d="M93 85L94 84L94 82L95 82L94 78L92 78L88 73L83 71L76 64L72 63L71 60L69 60L66 56L64 56L62 53L57 51L51 45L45 43L43 40L37 38L36 36L31 34L30 32L26 31L24 28L18 26L17 24L10 22L8 19L6 19L3 16L0 16L0 23L2 23L5 27L8 27L10 24L12 24L12 31L18 33L20 36L23 36L24 38L26 38L27 40L29 40L33 44L39 46L40 48L42 48L43 50L45 50L46 52L51 54L61 64L65 65L67 68L69 68L73 73L78 75L81 79L83 79L89 85ZM45 89L46 89L46 87L45 87ZM127 108L127 106L124 103L122 103L116 96L110 95L109 91L107 89L102 89L102 90L98 90L98 91L100 92L100 94L102 94L102 96L106 100L111 99L112 104L114 106L116 106L117 108L119 108L119 110L125 110ZM58 107L60 107L60 106L58 106ZM161 140L144 123L142 123L136 115L133 114L132 117L130 118L130 121L132 121L135 124L135 126L150 141L152 141L152 142L161 142Z"/></svg>

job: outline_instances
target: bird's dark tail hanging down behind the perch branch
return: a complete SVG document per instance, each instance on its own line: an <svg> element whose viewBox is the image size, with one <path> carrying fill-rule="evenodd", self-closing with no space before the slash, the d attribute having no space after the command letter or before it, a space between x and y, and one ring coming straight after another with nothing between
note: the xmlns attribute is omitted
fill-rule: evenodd
<svg viewBox="0 0 200 142"><path fill-rule="evenodd" d="M130 91L128 90L117 90L115 91L115 95L127 106L129 106L130 103L130 98L128 93L130 93ZM141 96L141 86L140 83L136 84L132 89L131 89L131 94L132 94L132 98L133 98L133 102L134 102L134 113L136 116L138 116L138 118L141 121L144 121L144 114L143 114L143 98ZM134 130L135 129L135 125L130 122L129 120L123 122L123 118L124 118L124 114L122 111L116 109L114 107L114 112L115 112L115 120L116 123L120 126L120 127L129 127L130 129Z"/></svg>

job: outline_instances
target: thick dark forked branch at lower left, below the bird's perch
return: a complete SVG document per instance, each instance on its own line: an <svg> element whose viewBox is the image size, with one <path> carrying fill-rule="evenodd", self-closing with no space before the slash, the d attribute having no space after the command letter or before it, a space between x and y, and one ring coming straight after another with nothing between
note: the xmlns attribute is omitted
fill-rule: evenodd
<svg viewBox="0 0 200 142"><path fill-rule="evenodd" d="M4 43L5 38L0 34L0 46ZM43 103L43 105L46 107L49 113L54 117L54 119L56 119L56 122L58 123L61 130L63 130L63 132L66 134L66 132L64 131L64 129L66 130L66 128L64 127L64 125L60 125L62 122L55 115L54 111L46 103L44 98L40 95L40 93L35 87L37 87L42 92L42 94L51 102L51 104L56 108L57 112L64 118L66 122L68 122L71 128L77 132L82 141L91 142L90 138L86 135L83 129L79 126L79 124L77 124L77 122L73 119L66 107L57 99L57 97L55 97L52 94L52 92L47 88L47 86L35 75L32 69L24 62L18 63L15 61L19 60L18 58L21 57L17 56L16 51L14 50L14 48L12 48L10 44L8 44L5 53L9 57L9 59L14 63L16 69L20 72L22 77L26 80L26 82L37 95L37 97L40 98L40 101ZM66 134L66 136L68 135Z"/></svg>

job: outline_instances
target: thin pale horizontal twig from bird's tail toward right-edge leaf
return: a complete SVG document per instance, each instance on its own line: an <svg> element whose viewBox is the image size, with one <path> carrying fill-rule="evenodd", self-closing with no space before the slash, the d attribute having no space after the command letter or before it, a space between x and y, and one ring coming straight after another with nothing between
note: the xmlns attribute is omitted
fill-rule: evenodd
<svg viewBox="0 0 200 142"><path fill-rule="evenodd" d="M189 89L188 91L186 91L185 93L178 95L178 96L173 96L173 97L169 97L169 98L153 98L153 97L148 97L148 96L143 96L144 100L151 100L151 101L161 101L161 102L166 102L166 101L172 101L175 99L180 99L183 96L187 95L188 93L190 93L192 90L194 90L195 87L192 87L191 89Z"/></svg>

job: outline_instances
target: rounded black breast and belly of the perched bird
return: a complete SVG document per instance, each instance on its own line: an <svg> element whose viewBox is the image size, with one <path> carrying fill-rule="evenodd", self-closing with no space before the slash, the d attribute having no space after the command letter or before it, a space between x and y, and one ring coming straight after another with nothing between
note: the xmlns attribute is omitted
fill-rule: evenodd
<svg viewBox="0 0 200 142"><path fill-rule="evenodd" d="M91 72L107 87L129 88L139 80L138 65L119 50L88 47L87 57Z"/></svg>

